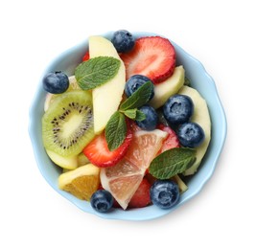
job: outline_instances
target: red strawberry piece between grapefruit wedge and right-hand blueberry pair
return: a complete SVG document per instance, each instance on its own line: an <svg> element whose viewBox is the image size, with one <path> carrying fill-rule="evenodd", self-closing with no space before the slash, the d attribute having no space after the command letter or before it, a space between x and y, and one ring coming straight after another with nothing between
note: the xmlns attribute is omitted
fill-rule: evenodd
<svg viewBox="0 0 256 249"><path fill-rule="evenodd" d="M157 128L169 133L158 152L159 154L170 148L180 147L177 135L173 129L171 129L169 126L165 126L164 124L158 124Z"/></svg>

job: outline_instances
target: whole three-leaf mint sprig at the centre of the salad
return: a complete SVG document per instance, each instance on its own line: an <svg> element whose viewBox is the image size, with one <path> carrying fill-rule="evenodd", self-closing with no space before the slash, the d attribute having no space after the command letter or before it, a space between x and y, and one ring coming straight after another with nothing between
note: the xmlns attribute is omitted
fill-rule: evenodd
<svg viewBox="0 0 256 249"><path fill-rule="evenodd" d="M144 83L110 117L105 126L105 140L110 151L120 147L126 139L128 130L126 117L136 121L146 119L146 115L138 108L149 102L152 87L151 81Z"/></svg>

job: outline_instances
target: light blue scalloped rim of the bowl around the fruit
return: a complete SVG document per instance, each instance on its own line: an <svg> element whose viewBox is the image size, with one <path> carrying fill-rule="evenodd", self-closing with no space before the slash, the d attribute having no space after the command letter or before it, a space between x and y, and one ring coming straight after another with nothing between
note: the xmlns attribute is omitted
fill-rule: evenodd
<svg viewBox="0 0 256 249"><path fill-rule="evenodd" d="M105 36L106 38L110 39L110 37L113 33L114 32L107 32L105 34L99 34L99 35ZM148 33L148 32L132 32L131 34L133 34L135 38L141 37L141 36L155 36L155 35L165 37L164 35ZM166 38L168 38L168 37L166 37ZM204 66L202 65L202 63L196 57L192 57L184 49L182 49L179 45L177 45L173 40L171 40L171 39L169 39L169 40L175 46L175 50L178 50L178 53L179 54L181 53L182 57L186 57L186 60L191 60L195 64L197 64L199 70L203 73L204 77L206 77L208 79L208 83L211 84L211 87L214 90L215 101L216 101L216 103L219 107L219 115L220 115L219 116L220 117L219 118L220 119L219 123L221 123L220 124L221 125L221 133L219 134L219 142L220 142L219 144L220 145L219 145L219 147L216 148L216 153L213 156L213 159L211 161L210 170L208 170L207 174L205 174L204 177L201 179L200 184L198 184L197 189L194 190L194 192L191 192L189 195L186 195L181 201L179 201L175 205L175 207L173 207L169 210L160 210L159 208L154 207L154 205L151 205L150 207L146 207L146 208L143 208L143 209L133 209L133 210L128 210L128 211L118 210L117 212L115 211L115 212L110 212L110 213L107 213L107 214L101 214L101 213L95 212L91 207L89 207L90 209L87 209L87 208L85 209L84 208L85 207L84 203L82 205L81 200L76 199L73 195L71 196L71 194L69 194L68 192L60 191L57 188L56 184L54 184L52 181L50 181L48 175L46 175L45 170L43 169L43 167L41 166L41 164L39 162L40 151L38 151L38 148L37 148L38 145L36 144L37 141L35 139L34 115L35 115L35 112L37 111L36 110L37 109L37 102L40 99L40 96L42 95L41 79L43 78L43 76L46 73L49 73L51 71L51 68L53 68L53 65L55 65L57 63L59 58L67 57L68 55L70 55L74 51L77 51L78 49L87 46L88 37L86 39L84 39L81 43L79 43L78 45L75 45L75 46L65 50L64 52L59 54L57 57L55 57L52 60L52 62L50 62L49 65L44 69L43 73L41 74L41 77L39 79L38 85L37 85L36 90L35 90L35 96L34 96L34 99L32 101L32 104L30 106L30 111L29 111L29 135L30 135L32 147L33 147L33 150L34 150L36 165L37 165L37 168L40 170L44 179L48 182L48 184L55 191L57 191L60 195L62 195L64 198L69 200L75 206L80 208L81 211L83 211L87 214L98 215L98 216L106 218L106 219L119 219L119 220L130 220L130 221L150 220L150 219L159 218L163 215L168 215L168 214L172 213L173 211L175 211L175 209L177 209L178 207L184 205L186 202L188 202L190 199L192 199L195 195L197 195L202 190L202 188L205 186L205 184L209 181L209 179L211 178L211 176L214 173L214 170L217 167L218 160L219 160L220 155L221 155L221 150L224 146L225 139L226 139L226 134L227 134L226 117L225 117L224 109L223 109L222 104L221 104L221 99L220 99L220 96L219 96L219 93L218 93L218 90L217 90L217 86L215 84L214 79L206 72ZM207 100L206 100L206 102L207 102ZM151 212L145 212L146 209L149 210L149 208L151 209Z"/></svg>

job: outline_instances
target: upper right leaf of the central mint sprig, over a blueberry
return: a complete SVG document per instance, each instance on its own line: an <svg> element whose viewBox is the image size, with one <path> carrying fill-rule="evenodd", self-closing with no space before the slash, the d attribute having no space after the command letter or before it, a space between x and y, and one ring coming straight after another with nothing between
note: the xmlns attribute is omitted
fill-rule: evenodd
<svg viewBox="0 0 256 249"><path fill-rule="evenodd" d="M140 86L125 102L120 105L120 110L125 111L128 109L138 108L149 102L152 89L152 82L147 81L142 86Z"/></svg>

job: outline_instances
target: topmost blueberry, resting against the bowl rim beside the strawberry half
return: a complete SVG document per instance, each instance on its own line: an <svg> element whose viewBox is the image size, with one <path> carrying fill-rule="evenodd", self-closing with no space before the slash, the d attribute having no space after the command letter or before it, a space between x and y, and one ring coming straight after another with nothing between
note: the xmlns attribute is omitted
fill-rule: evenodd
<svg viewBox="0 0 256 249"><path fill-rule="evenodd" d="M125 30L115 32L111 41L118 53L127 53L132 50L135 45L134 37Z"/></svg>

